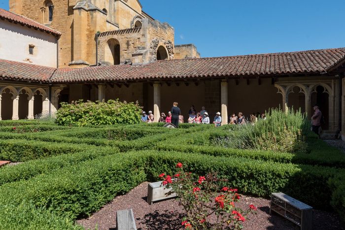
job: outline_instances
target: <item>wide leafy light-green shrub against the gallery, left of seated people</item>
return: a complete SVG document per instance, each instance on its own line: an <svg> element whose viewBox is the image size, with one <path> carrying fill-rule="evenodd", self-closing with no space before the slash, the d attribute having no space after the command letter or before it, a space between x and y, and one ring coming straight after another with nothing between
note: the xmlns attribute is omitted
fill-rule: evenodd
<svg viewBox="0 0 345 230"><path fill-rule="evenodd" d="M138 104L108 100L107 102L62 103L56 113L58 125L87 126L112 124L137 124L140 122L141 108Z"/></svg>

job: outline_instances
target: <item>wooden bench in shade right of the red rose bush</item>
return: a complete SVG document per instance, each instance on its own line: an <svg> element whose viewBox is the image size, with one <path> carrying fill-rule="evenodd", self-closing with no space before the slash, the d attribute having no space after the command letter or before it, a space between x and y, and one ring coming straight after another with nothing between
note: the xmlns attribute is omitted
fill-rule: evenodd
<svg viewBox="0 0 345 230"><path fill-rule="evenodd" d="M274 211L298 225L301 230L312 229L312 207L283 193L273 193L270 214Z"/></svg>

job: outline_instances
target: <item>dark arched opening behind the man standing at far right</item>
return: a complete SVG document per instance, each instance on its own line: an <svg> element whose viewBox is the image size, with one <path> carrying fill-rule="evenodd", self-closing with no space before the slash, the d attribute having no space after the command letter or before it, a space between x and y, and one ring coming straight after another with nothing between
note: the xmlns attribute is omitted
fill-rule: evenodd
<svg viewBox="0 0 345 230"><path fill-rule="evenodd" d="M311 114L314 114L312 106L318 104L325 119L325 124L321 124L321 128L323 130L328 130L329 128L328 97L329 95L323 86L316 86L315 90L311 94Z"/></svg>

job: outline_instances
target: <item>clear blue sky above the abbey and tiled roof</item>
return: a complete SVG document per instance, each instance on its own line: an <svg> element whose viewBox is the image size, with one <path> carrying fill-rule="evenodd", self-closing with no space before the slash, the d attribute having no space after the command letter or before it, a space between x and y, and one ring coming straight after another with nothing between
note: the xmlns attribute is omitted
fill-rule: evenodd
<svg viewBox="0 0 345 230"><path fill-rule="evenodd" d="M345 47L343 0L140 0L202 57ZM0 0L8 9L8 0Z"/></svg>

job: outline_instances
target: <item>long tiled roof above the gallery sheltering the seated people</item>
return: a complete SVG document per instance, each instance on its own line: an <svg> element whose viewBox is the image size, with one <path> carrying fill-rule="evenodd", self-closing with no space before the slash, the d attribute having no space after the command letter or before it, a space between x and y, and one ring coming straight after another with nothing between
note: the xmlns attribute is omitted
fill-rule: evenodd
<svg viewBox="0 0 345 230"><path fill-rule="evenodd" d="M53 82L80 82L322 73L342 61L345 61L345 48L167 60L141 66L58 69L51 80Z"/></svg>

